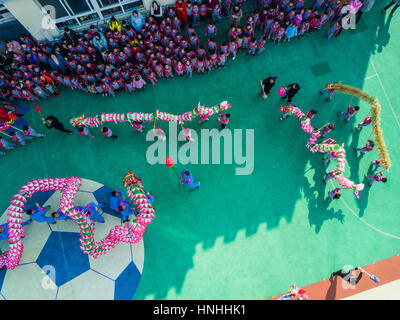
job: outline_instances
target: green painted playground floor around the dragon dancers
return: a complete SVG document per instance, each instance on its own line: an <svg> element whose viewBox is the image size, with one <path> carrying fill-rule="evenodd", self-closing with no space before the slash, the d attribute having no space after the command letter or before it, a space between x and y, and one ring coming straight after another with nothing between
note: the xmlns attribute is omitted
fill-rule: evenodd
<svg viewBox="0 0 400 320"><path fill-rule="evenodd" d="M376 4L357 30L339 38L328 41L321 31L279 46L268 43L261 56L240 54L224 70L191 80L159 81L144 92L121 93L115 99L63 89L58 99L41 103L45 114L66 122L82 113L183 113L198 101L212 106L228 100L229 127L255 130L252 175L236 176L236 164L190 165L201 181L200 191L190 192L170 169L147 164L151 142L128 125L110 125L119 141L106 140L99 129L92 130L95 139L48 131L45 139L30 141L0 160L0 204L5 209L19 187L34 178L74 175L123 188L121 177L133 169L153 193L156 208L144 237L145 262L135 299L266 299L292 284L327 278L343 265L362 266L398 254L400 15L388 22L380 9ZM224 38L226 22L218 29ZM371 129L365 128L354 137L352 129L369 108L361 102L357 118L345 125L336 111L347 108L350 97L336 93L325 103L318 91L327 82L342 81L376 96L393 162L389 181L365 189L360 200L346 192L342 200L325 201L333 187L322 182L321 155L305 148L308 136L296 119L278 120L277 95L267 100L257 95L259 80L272 75L278 76L278 86L300 83L294 102L303 110L318 110L315 127L336 123L331 137L347 146L346 176L355 181L362 180L377 158L374 152L360 159L351 151L370 135ZM27 119L39 129L34 112ZM203 126L212 128L215 120Z"/></svg>

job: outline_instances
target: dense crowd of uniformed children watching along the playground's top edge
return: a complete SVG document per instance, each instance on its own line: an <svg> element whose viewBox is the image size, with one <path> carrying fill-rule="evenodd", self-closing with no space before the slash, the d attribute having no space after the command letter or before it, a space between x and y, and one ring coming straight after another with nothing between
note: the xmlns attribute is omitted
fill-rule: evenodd
<svg viewBox="0 0 400 320"><path fill-rule="evenodd" d="M232 3L240 5L240 0ZM315 0L310 8L303 7L303 0L259 0L244 27L230 28L228 41L218 46L216 23L229 13L231 1L223 0L221 7L216 4L212 10L207 10L205 2L185 4L186 14L174 6L163 18L144 19L134 11L133 25L113 17L104 31L94 25L81 34L65 28L63 38L54 45L27 35L7 40L12 62L0 71L1 95L38 101L58 96L62 84L114 97L119 90L142 90L147 82L154 85L162 78L191 77L193 72L222 68L228 56L235 59L237 52L259 55L267 39L290 41L328 23L328 37L341 29L340 0ZM207 24L205 44L200 44L193 28L198 23ZM255 30L262 30L258 41Z"/></svg>

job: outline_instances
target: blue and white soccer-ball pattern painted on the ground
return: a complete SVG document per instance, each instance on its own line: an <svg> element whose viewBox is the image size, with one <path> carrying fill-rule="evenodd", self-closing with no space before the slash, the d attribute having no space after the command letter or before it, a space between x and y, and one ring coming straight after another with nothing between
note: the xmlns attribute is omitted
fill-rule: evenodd
<svg viewBox="0 0 400 320"><path fill-rule="evenodd" d="M121 215L108 206L111 189L92 180L82 179L74 204L106 203L105 223L95 224L95 241L104 238L117 224ZM59 191L38 192L26 203L50 205L47 212L59 208ZM10 199L11 200L11 199ZM6 208L5 208L6 209ZM24 213L23 220L29 216ZM6 223L7 215L0 217ZM32 221L24 227L24 252L14 270L0 269L0 299L132 299L143 270L143 240L137 244L120 243L106 255L94 259L79 248L79 228L71 220L56 224ZM8 250L8 241L0 241L0 250Z"/></svg>

